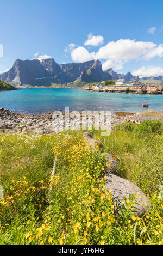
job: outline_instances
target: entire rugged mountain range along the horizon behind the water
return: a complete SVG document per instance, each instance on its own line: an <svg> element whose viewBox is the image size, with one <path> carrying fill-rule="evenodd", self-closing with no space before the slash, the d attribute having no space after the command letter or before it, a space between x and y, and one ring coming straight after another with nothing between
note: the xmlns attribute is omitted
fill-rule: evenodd
<svg viewBox="0 0 163 256"><path fill-rule="evenodd" d="M103 71L101 62L97 59L83 63L57 64L51 59L17 59L12 68L1 74L0 79L15 85L52 86L53 84L70 84L77 87L84 83L102 82L123 78L125 82L140 80L139 76L133 76L131 72L126 75L117 74L112 68ZM152 77L153 80L163 81L163 77ZM148 80L147 77L141 78Z"/></svg>

